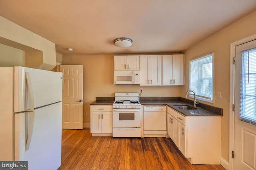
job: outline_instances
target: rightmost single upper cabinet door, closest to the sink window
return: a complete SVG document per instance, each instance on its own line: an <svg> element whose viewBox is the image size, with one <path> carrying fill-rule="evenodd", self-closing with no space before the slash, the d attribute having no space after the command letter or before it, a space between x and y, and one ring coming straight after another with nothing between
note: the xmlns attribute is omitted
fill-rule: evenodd
<svg viewBox="0 0 256 170"><path fill-rule="evenodd" d="M172 55L172 85L184 85L184 55Z"/></svg>

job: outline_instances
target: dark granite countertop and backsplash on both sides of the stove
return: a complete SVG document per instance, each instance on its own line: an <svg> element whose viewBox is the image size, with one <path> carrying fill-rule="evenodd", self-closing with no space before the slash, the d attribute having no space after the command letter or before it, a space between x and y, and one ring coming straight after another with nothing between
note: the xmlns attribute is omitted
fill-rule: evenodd
<svg viewBox="0 0 256 170"><path fill-rule="evenodd" d="M174 105L188 105L193 107L193 101L181 97L140 97L140 104L146 105L166 105L178 111L185 116L223 116L223 109L201 104L196 106L197 109L178 109ZM97 97L96 101L90 105L112 105L114 97Z"/></svg>

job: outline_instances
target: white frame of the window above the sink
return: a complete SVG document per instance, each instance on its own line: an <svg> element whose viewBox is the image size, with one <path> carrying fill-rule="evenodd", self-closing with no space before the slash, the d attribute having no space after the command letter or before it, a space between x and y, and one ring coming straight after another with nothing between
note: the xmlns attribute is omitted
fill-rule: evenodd
<svg viewBox="0 0 256 170"><path fill-rule="evenodd" d="M204 95L202 95L201 93L199 94L198 92L195 92L196 93L196 99L197 100L201 100L201 101L204 101L204 102L208 102L208 103L214 103L214 52L212 52L212 53L208 53L208 54L206 54L206 55L202 55L202 56L200 56L200 57L197 57L197 58L195 58L195 59L192 59L192 60L190 60L189 61L189 79L188 79L188 84L189 84L189 90L193 90L193 91L195 91L194 89L192 89L192 87L191 87L191 82L190 82L190 80L191 80L191 62L193 62L193 61L198 61L198 60L200 60L200 59L204 59L204 58L206 58L206 57L212 57L212 59L211 59L211 63L212 63L212 78L202 78L202 77L198 77L198 85L200 86L198 89L199 89L199 91L201 91L201 86L202 86L202 84L201 84L201 80L209 80L209 79L211 79L212 80L212 82L211 82L211 90L212 90L212 93L211 93L211 97L209 97L209 96L204 96ZM197 74L201 74L202 75L202 65L203 64L207 64L207 63L210 63L209 61L205 61L205 62L201 62L200 61L200 64L198 64L198 72L197 72ZM194 99L194 94L190 94L189 95L189 98L193 98Z"/></svg>

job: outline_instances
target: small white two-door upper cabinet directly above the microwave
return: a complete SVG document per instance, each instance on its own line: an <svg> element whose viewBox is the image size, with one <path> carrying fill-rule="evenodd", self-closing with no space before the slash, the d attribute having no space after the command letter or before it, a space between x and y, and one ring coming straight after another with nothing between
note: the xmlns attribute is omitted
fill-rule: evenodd
<svg viewBox="0 0 256 170"><path fill-rule="evenodd" d="M140 70L139 55L114 56L115 70Z"/></svg>

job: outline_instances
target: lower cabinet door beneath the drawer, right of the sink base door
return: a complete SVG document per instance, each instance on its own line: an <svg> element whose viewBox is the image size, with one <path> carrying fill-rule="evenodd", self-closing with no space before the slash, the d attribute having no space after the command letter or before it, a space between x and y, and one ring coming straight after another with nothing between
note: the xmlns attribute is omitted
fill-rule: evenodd
<svg viewBox="0 0 256 170"><path fill-rule="evenodd" d="M186 126L178 121L178 149L186 157Z"/></svg>

